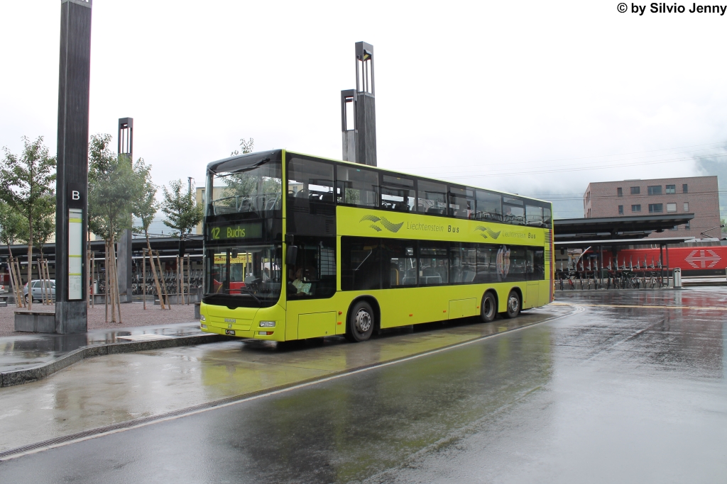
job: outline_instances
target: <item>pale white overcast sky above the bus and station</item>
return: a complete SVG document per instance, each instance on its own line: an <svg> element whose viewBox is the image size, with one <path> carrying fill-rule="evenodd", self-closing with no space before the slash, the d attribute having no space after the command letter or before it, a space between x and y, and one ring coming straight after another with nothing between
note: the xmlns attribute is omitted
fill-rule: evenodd
<svg viewBox="0 0 727 484"><path fill-rule="evenodd" d="M379 166L582 216L589 181L727 161L727 15L617 4L95 0L90 133L134 118L157 184L202 184L241 137L340 159L340 90L366 41ZM59 33L59 0L0 0L0 146L44 136L55 153Z"/></svg>

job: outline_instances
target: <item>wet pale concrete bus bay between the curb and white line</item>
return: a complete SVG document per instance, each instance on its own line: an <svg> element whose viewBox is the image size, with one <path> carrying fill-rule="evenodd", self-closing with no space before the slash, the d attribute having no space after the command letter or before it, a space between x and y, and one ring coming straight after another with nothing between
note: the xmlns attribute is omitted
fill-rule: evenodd
<svg viewBox="0 0 727 484"><path fill-rule="evenodd" d="M472 319L425 324L415 331L411 327L388 331L357 345L343 337L286 345L231 340L91 358L46 380L0 388L0 451L318 379L526 327L572 311L560 306L493 324L477 324Z"/></svg>

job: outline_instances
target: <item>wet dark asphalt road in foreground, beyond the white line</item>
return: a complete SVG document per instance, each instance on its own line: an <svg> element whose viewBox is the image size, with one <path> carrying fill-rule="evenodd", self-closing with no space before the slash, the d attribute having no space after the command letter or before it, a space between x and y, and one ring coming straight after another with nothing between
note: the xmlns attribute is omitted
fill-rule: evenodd
<svg viewBox="0 0 727 484"><path fill-rule="evenodd" d="M20 456L0 482L724 482L727 291L558 296L582 311Z"/></svg>

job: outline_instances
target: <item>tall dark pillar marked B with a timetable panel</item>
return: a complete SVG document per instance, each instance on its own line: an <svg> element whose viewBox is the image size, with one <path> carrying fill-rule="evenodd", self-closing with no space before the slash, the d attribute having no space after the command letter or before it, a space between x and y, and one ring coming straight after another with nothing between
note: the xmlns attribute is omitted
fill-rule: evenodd
<svg viewBox="0 0 727 484"><path fill-rule="evenodd" d="M87 331L86 237L92 0L60 0L55 332Z"/></svg>

